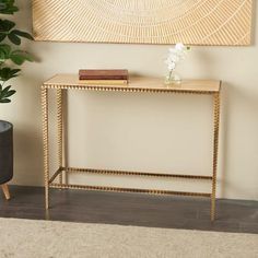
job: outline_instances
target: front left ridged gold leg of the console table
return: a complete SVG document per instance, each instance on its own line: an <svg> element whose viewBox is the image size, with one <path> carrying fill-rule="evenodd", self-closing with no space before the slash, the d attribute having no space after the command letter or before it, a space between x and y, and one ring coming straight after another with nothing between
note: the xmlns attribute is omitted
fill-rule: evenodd
<svg viewBox="0 0 258 258"><path fill-rule="evenodd" d="M49 139L48 139L48 90L42 86L43 152L45 176L45 207L49 208Z"/></svg>

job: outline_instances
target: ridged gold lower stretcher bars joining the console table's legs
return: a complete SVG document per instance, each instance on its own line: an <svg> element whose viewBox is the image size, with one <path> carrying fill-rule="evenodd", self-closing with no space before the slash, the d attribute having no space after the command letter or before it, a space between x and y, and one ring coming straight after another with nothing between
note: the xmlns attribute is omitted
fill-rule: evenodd
<svg viewBox="0 0 258 258"><path fill-rule="evenodd" d="M144 172L125 172L125 171L107 171L107 169L93 169L93 168L77 168L77 167L60 167L48 181L50 188L59 189L81 189L81 190L97 190L97 191L118 191L118 192L139 192L150 195L174 195L174 196L192 196L192 197L208 197L211 198L209 192L188 192L188 191L172 191L172 190L159 190L159 189L142 189L142 188L122 188L110 186L89 186L89 185L73 185L73 184L57 184L54 183L59 175L66 172L71 173L87 173L87 174L104 174L104 175L126 175L126 176L146 176L146 177L174 177L185 179L199 179L199 180L212 180L211 176L200 175L180 175L180 174L154 174Z"/></svg>

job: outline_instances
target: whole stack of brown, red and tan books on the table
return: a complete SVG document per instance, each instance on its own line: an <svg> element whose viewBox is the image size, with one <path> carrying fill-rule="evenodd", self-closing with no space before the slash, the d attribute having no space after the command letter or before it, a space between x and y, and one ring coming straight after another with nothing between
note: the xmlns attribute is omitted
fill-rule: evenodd
<svg viewBox="0 0 258 258"><path fill-rule="evenodd" d="M79 70L79 82L95 85L127 85L128 70Z"/></svg>

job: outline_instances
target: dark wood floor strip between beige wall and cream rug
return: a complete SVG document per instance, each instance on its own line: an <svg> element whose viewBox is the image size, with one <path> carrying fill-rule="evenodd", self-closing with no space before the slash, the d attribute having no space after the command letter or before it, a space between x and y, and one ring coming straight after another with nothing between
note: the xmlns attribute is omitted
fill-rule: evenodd
<svg viewBox="0 0 258 258"><path fill-rule="evenodd" d="M44 188L10 187L12 199L0 197L0 216L149 227L258 234L258 202L218 200L216 221L210 222L210 201L139 194L51 190L44 209Z"/></svg>

